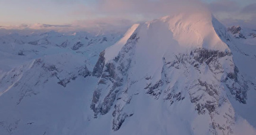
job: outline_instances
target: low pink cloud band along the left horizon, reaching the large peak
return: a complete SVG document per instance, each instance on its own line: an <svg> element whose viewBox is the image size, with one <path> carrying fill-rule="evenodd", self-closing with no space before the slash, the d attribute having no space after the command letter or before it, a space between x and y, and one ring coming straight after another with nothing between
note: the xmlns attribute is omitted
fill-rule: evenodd
<svg viewBox="0 0 256 135"><path fill-rule="evenodd" d="M132 24L136 22L127 20L124 18L98 18L92 20L77 20L70 24L20 24L12 26L0 26L0 29L6 30L42 30L43 32L49 30L55 30L58 32L79 32L86 31L90 33L107 33L107 32L117 32L124 33L129 29Z"/></svg>

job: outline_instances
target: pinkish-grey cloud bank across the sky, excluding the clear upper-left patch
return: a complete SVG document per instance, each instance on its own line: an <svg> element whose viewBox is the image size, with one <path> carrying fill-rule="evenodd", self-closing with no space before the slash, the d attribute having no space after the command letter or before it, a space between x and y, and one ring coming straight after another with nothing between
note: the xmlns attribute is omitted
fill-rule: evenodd
<svg viewBox="0 0 256 135"><path fill-rule="evenodd" d="M82 0L47 0L53 5L74 7L73 10L65 14L77 19L63 24L0 25L0 29L125 32L134 23L179 12L213 12L218 20L226 26L241 25L256 28L256 2L252 1L247 5L241 5L237 0L202 1L204 0L88 0L85 3Z"/></svg>

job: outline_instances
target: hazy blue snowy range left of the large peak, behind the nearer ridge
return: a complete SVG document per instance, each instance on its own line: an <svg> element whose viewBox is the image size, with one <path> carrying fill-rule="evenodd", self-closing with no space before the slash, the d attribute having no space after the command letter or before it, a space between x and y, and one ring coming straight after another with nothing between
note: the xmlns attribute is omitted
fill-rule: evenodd
<svg viewBox="0 0 256 135"><path fill-rule="evenodd" d="M26 61L56 54L83 55L83 61L98 59L101 51L113 45L122 34L90 34L46 32L29 35L7 34L0 37L0 71L23 64ZM92 65L92 66L93 66Z"/></svg>

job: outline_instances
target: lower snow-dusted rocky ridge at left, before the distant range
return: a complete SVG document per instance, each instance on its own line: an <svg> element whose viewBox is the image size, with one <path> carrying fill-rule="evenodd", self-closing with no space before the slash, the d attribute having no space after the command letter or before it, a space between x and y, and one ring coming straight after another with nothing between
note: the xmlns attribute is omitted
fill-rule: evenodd
<svg viewBox="0 0 256 135"><path fill-rule="evenodd" d="M23 74L26 74L23 77ZM5 86L18 87L20 89L20 98L17 105L21 103L23 98L27 96L38 95L40 92L33 87L43 87L49 80L56 81L63 87L68 83L77 79L77 77L88 77L91 72L86 65L74 68L74 71L64 70L60 63L51 64L43 58L35 59L31 64L25 64L14 68L0 78L2 89L7 89ZM20 80L25 83L20 83ZM33 87L32 87L33 86Z"/></svg>

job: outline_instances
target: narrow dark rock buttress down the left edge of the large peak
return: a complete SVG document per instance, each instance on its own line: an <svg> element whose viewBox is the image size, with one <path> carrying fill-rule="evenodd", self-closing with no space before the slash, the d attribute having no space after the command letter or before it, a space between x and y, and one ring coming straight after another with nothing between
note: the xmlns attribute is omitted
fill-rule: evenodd
<svg viewBox="0 0 256 135"><path fill-rule="evenodd" d="M125 83L124 80L126 80L126 75L132 62L131 58L126 59L126 57L133 55L133 49L135 48L135 43L138 42L138 39L139 37L136 36L136 33L133 33L127 40L127 43L124 45L120 54L113 61L109 61L105 65L103 65L104 59L101 56L99 57L99 60L93 69L93 73L95 76L101 76L101 78L93 93L93 99L90 105L90 108L95 112L95 117L97 117L98 114L107 114L110 111L111 106L113 106L113 103L116 101L117 96L121 94L120 90L123 88L123 83ZM104 68L102 68L102 65ZM102 71L100 71L101 69ZM100 73L102 74L100 75ZM107 84L110 84L110 87L106 87ZM129 103L129 101L129 99L127 101L120 100L122 103L115 105L115 111L113 112L113 130L118 130L125 118L132 116L132 113L121 112L124 104Z"/></svg>

